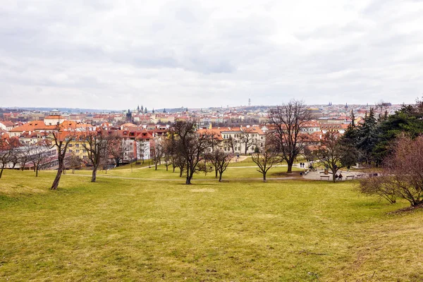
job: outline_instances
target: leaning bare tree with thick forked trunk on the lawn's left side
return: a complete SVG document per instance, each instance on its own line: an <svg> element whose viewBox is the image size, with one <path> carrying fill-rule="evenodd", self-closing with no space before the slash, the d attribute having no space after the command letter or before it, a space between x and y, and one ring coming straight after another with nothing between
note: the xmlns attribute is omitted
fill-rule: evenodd
<svg viewBox="0 0 423 282"><path fill-rule="evenodd" d="M52 147L56 147L57 149L57 160L59 162L56 178L54 178L53 184L51 185L51 190L56 190L59 186L61 174L66 169L66 152L68 151L69 143L75 140L75 133L71 130L63 130L63 127L58 125L49 138L51 139Z"/></svg>

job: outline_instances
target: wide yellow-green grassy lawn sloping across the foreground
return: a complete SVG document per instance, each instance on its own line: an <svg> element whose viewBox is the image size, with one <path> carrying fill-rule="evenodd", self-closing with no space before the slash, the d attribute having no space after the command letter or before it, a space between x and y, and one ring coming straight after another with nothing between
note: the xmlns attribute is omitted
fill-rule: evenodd
<svg viewBox="0 0 423 282"><path fill-rule="evenodd" d="M53 171L4 172L0 281L423 281L423 212L353 181L77 173L51 191Z"/></svg>

